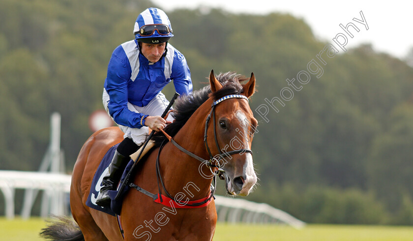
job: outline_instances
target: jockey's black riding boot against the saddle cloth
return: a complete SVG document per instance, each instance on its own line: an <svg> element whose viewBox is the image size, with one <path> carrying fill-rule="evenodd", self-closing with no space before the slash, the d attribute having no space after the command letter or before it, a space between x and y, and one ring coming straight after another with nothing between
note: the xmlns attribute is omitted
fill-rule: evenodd
<svg viewBox="0 0 413 241"><path fill-rule="evenodd" d="M118 150L115 152L115 156L112 159L111 164L109 164L109 172L103 177L102 184L100 188L100 193L97 196L96 204L105 207L110 206L111 198L109 197L109 190L115 190L118 184L123 170L125 169L129 156L122 156L119 154Z"/></svg>

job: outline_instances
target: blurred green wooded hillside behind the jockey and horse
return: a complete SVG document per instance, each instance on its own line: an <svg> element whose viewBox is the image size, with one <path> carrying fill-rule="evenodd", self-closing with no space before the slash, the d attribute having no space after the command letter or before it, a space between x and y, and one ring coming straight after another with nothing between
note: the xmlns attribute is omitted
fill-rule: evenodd
<svg viewBox="0 0 413 241"><path fill-rule="evenodd" d="M67 169L73 167L92 134L89 115L103 108L111 53L133 39L136 17L150 6L148 0L0 2L0 169L37 170L55 111L62 115ZM325 58L323 75L311 74L279 112L269 109L266 122L257 107L279 97L286 79L318 61L328 43L288 14L167 14L175 35L170 44L187 58L194 89L206 85L211 69L257 78L250 105L259 120L252 149L261 186L247 198L310 222L412 223L412 67L368 44Z"/></svg>

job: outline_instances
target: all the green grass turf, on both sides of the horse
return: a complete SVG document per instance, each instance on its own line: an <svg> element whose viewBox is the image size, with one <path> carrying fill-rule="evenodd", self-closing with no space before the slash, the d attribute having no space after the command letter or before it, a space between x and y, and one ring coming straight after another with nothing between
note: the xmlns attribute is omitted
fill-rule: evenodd
<svg viewBox="0 0 413 241"><path fill-rule="evenodd" d="M43 218L0 217L0 241L40 241ZM413 227L360 225L281 225L218 223L214 241L413 241Z"/></svg>

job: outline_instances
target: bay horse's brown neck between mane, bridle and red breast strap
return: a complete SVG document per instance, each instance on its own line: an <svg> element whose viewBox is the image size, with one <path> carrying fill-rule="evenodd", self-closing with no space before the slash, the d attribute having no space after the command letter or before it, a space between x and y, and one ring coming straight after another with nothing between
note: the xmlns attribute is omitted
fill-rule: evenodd
<svg viewBox="0 0 413 241"><path fill-rule="evenodd" d="M205 127L205 120L209 111L205 107L210 106L210 103L206 104L207 105L204 105L203 107L201 106L200 108L202 109L199 108L191 116L175 135L174 140L186 150L208 160L209 156L204 145L203 127ZM169 162L164 162L163 168L163 170L165 170L165 180L172 180L169 183L165 182L167 191L171 195L187 191L185 190L185 187L188 188L188 186L190 186L192 188L190 193L194 194L194 197L191 198L191 200L207 196L212 178L207 178L206 175L211 175L211 172L207 169L205 164L202 164L200 161L178 150L172 143L165 145L162 150L162 155L165 158L174 157ZM203 175L201 172L205 174ZM197 191L198 189L199 191ZM193 191L195 191L195 193Z"/></svg>

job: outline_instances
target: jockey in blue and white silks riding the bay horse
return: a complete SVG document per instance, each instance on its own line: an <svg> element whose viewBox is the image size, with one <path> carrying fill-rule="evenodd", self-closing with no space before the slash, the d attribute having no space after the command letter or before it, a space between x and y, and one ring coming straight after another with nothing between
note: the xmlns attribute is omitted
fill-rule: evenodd
<svg viewBox="0 0 413 241"><path fill-rule="evenodd" d="M143 11L135 22L135 40L112 53L103 89L106 112L124 133L109 172L103 178L96 204L108 206L123 169L145 142L148 127L159 131L169 123L160 117L169 104L161 90L174 80L180 95L192 93L191 73L185 57L168 45L173 37L168 16L158 8ZM172 119L173 120L173 119ZM115 186L114 186L115 185Z"/></svg>

